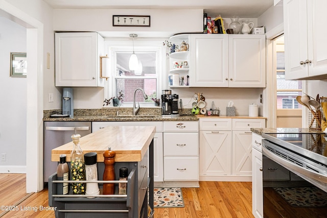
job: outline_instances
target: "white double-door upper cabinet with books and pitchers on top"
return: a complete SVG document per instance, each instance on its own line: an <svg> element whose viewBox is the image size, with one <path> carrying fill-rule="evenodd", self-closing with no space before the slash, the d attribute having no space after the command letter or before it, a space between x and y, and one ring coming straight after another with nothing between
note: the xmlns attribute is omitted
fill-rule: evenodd
<svg viewBox="0 0 327 218"><path fill-rule="evenodd" d="M194 87L266 87L265 35L191 34Z"/></svg>

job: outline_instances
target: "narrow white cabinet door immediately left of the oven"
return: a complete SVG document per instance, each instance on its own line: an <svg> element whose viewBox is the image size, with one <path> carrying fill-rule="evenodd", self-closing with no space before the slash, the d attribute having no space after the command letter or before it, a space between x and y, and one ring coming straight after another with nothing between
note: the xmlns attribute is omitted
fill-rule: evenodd
<svg viewBox="0 0 327 218"><path fill-rule="evenodd" d="M262 153L252 149L252 213L255 218L262 218L263 184L262 184Z"/></svg>

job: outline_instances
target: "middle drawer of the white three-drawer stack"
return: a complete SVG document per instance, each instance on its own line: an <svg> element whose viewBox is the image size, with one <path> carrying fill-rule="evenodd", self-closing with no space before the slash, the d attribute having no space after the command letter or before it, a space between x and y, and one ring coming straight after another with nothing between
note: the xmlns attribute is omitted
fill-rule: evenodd
<svg viewBox="0 0 327 218"><path fill-rule="evenodd" d="M198 156L198 133L164 133L164 156Z"/></svg>

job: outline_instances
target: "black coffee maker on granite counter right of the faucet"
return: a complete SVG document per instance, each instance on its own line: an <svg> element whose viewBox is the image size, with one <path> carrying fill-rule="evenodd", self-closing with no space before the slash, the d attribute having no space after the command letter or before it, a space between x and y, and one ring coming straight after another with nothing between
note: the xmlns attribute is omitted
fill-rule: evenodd
<svg viewBox="0 0 327 218"><path fill-rule="evenodd" d="M162 90L161 93L162 116L174 117L178 114L178 94L172 94L171 90Z"/></svg>

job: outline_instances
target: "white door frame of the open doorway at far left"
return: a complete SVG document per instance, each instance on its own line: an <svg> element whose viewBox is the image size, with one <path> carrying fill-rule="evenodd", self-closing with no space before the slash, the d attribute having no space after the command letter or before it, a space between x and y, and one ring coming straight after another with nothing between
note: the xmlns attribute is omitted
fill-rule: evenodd
<svg viewBox="0 0 327 218"><path fill-rule="evenodd" d="M26 192L37 192L43 189L43 23L7 2L0 11L27 28Z"/></svg>

